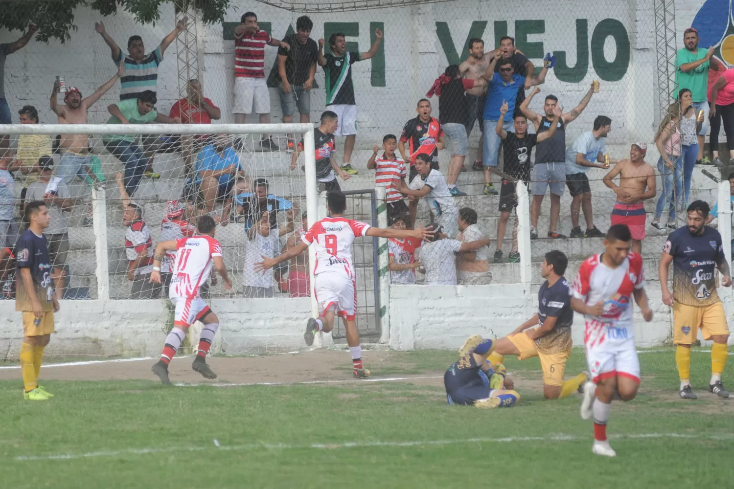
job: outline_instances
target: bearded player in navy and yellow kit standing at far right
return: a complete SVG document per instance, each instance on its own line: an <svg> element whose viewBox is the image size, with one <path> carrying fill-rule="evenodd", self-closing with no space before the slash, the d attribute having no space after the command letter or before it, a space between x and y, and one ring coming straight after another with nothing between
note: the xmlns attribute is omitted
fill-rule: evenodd
<svg viewBox="0 0 734 489"><path fill-rule="evenodd" d="M715 269L722 274L722 286L730 287L729 264L724 257L722 235L705 226L709 208L697 200L688 206L688 225L668 236L658 273L663 302L673 307L673 342L675 364L680 375L680 397L697 399L691 389L691 344L700 329L703 339L713 339L711 345L711 381L708 391L719 397L729 397L722 384L722 372L727 364L729 328L719 294L716 292ZM673 262L673 292L668 289L668 266Z"/></svg>

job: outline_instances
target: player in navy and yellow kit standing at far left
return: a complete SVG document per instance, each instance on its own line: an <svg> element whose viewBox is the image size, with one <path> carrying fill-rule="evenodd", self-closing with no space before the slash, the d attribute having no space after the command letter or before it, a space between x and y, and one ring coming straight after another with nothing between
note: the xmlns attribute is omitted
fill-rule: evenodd
<svg viewBox="0 0 734 489"><path fill-rule="evenodd" d="M23 398L45 401L49 394L38 385L38 375L43 360L43 349L54 332L54 312L59 301L54 294L54 277L51 276L51 260L43 229L51 221L46 203L34 200L26 204L28 229L15 244L15 268L18 282L15 285L15 310L23 316L23 343L21 344L21 374Z"/></svg>

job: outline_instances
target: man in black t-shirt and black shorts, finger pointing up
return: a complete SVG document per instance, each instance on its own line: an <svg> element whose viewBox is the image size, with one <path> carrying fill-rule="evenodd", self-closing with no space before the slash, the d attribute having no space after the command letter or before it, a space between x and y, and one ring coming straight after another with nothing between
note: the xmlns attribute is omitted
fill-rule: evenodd
<svg viewBox="0 0 734 489"><path fill-rule="evenodd" d="M505 101L500 107L500 119L497 121L495 128L497 135L502 139L502 147L504 150L504 172L509 177L516 180L522 180L526 186L530 187L530 155L533 147L541 141L550 139L556 133L556 125L551 130L544 133L528 134L528 120L522 114L515 117L515 133L508 133L504 130L504 120L507 115L509 106ZM556 108L554 112L556 121L561 117L561 109ZM502 242L504 241L505 231L507 229L507 221L509 214L517 208L517 189L515 182L507 179L502 180L500 188L500 218L497 221L497 249L495 250L495 263L502 262ZM507 261L510 263L520 261L520 252L517 250L517 213L515 213L515 226L512 228L512 251L510 251Z"/></svg>

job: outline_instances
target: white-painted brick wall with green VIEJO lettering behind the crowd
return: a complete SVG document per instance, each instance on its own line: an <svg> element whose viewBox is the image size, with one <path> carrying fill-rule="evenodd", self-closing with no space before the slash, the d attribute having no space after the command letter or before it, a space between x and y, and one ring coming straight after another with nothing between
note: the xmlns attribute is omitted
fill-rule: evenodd
<svg viewBox="0 0 734 489"><path fill-rule="evenodd" d="M237 8L230 9L224 26L200 26L198 32L205 92L224 109L222 122L232 122L229 108L233 103L234 43L228 32L233 23L239 22L242 12L253 7L244 0L232 4ZM702 28L714 29L711 19L715 12L709 12L708 7L700 9L700 1L679 0L675 4L681 39L683 29L693 23L697 14ZM425 95L446 65L465 59L464 46L470 37L483 37L487 48L493 48L504 34L517 37L517 48L537 66L542 65L542 56L548 51L559 56L559 66L549 73L543 92L558 95L567 108L578 103L592 80L601 81L603 89L595 96L594 109L582 114L570 128L569 141L586 130L600 112L616 121L608 144L650 141L657 106L653 1L607 0L603 8L581 0L548 0L542 5L543 15L526 13L527 4L519 0L456 0L360 12L314 13L310 17L314 21L313 39L345 32L348 47L359 51L368 50L376 27L385 32L384 53L354 66L362 135L357 143L362 146L371 148L372 141L386 132L399 131L407 119L415 116L416 100ZM266 4L254 7L261 26L280 39L294 29L300 15ZM68 84L90 94L114 73L109 48L93 28L99 15L87 8L76 9L73 15L79 30L71 32L67 43L52 40L46 45L33 40L8 56L5 90L14 121L18 109L26 103L40 109L42 121L55 121L48 109L54 76L64 75ZM172 29L173 18L172 4L166 3L155 26L138 26L128 12L118 12L104 20L108 32L123 49L128 36L140 34L150 50ZM17 31L1 32L0 42L15 40L18 35ZM175 44L169 48L159 73L158 108L166 113L178 99L175 49ZM266 48L266 74L275 63L276 53L276 48ZM314 121L324 109L321 68L316 81L319 88L314 90L311 102ZM113 88L95 105L90 111L90 122L106 121L106 106L117 100L118 91ZM273 120L278 122L277 89L270 89L270 99ZM540 104L542 100L536 100L532 107L539 110Z"/></svg>

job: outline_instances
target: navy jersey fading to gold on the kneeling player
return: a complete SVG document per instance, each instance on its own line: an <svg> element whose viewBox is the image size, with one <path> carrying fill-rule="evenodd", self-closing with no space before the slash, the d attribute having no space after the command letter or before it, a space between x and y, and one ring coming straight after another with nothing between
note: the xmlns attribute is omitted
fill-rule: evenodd
<svg viewBox="0 0 734 489"><path fill-rule="evenodd" d="M560 353L570 350L571 325L573 309L571 309L570 285L566 277L561 277L551 287L548 280L538 291L538 320L542 326L548 317L557 317L553 329L535 340L535 346L542 353Z"/></svg>

